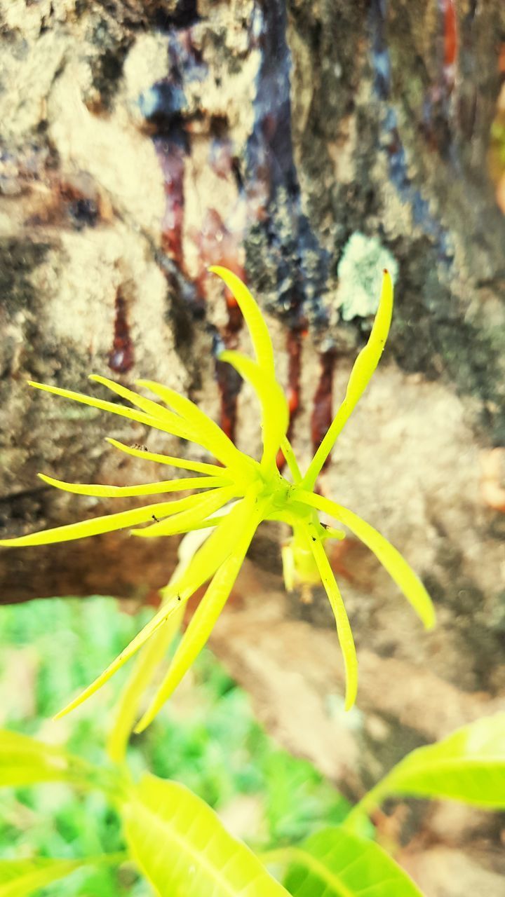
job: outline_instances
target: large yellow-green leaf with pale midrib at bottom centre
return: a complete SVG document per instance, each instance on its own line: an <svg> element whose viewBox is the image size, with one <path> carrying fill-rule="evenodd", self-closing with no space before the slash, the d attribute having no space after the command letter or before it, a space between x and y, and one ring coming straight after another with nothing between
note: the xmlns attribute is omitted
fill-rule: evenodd
<svg viewBox="0 0 505 897"><path fill-rule="evenodd" d="M125 804L129 847L146 878L171 897L281 897L284 888L188 788L146 775Z"/></svg>

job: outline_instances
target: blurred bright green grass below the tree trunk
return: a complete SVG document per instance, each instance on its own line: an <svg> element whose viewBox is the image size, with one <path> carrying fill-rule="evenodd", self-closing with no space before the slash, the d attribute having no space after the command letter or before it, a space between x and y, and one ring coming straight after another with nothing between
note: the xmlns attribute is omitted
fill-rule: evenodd
<svg viewBox="0 0 505 897"><path fill-rule="evenodd" d="M106 762L111 703L128 675L114 677L75 713L51 716L89 684L150 616L121 613L108 597L48 599L0 608L0 724ZM338 823L348 804L309 763L272 742L253 717L247 694L209 650L179 691L128 748L134 771L173 778L203 797L232 832L255 849L301 840ZM120 824L100 792L59 783L4 790L0 857L78 858L123 846ZM145 881L123 867L80 870L40 892L44 897L144 897Z"/></svg>

